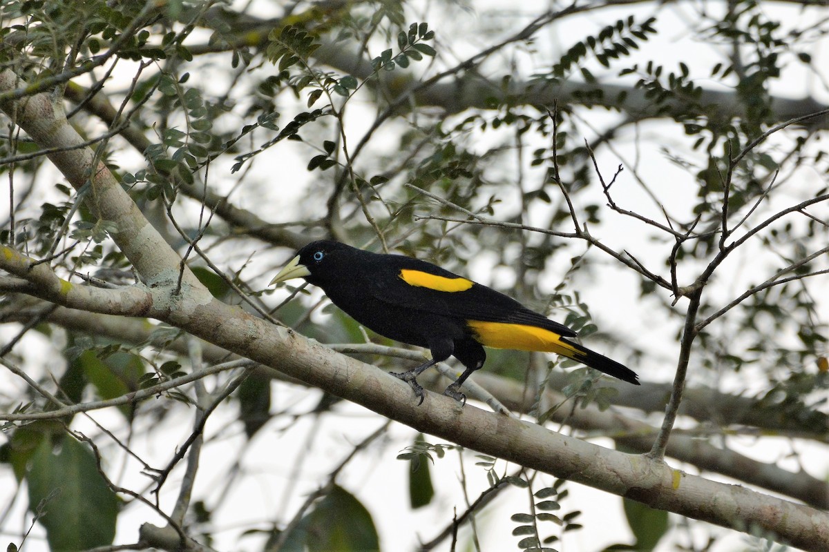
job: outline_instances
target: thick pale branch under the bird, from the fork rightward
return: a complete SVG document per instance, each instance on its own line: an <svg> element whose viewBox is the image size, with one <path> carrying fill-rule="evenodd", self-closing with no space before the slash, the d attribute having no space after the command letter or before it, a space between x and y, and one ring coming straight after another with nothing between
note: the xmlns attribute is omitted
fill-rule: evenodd
<svg viewBox="0 0 829 552"><path fill-rule="evenodd" d="M825 512L711 482L657 459L604 449L472 405L461 408L448 397L429 393L423 406L417 406L405 382L218 301L199 307L186 319L173 316L168 321L378 414L483 454L720 526L737 530L759 526L807 550L829 548Z"/></svg>

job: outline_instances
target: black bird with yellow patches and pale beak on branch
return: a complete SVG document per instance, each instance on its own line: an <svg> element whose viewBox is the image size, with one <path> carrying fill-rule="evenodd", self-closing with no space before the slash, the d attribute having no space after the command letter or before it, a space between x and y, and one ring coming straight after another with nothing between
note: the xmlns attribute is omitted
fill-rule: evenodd
<svg viewBox="0 0 829 552"><path fill-rule="evenodd" d="M463 382L487 359L484 347L556 353L639 385L633 370L585 348L574 330L518 301L430 262L368 252L319 240L302 247L269 286L303 278L376 334L428 348L432 358L407 372L390 372L424 401L417 377L429 367L458 359L465 367L444 391L462 404Z"/></svg>

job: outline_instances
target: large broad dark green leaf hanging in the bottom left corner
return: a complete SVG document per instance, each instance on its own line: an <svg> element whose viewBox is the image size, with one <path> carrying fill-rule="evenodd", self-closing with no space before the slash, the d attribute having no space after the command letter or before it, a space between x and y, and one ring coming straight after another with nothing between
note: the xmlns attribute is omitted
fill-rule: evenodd
<svg viewBox="0 0 829 552"><path fill-rule="evenodd" d="M84 444L67 436L60 452L52 439L43 439L27 473L29 509L41 512L53 551L71 552L112 544L118 497L98 472L95 456Z"/></svg>

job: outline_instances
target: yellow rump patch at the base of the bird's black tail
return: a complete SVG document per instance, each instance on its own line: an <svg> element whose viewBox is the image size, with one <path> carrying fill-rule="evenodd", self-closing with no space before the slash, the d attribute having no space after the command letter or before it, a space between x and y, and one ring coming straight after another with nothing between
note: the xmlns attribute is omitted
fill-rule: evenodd
<svg viewBox="0 0 829 552"><path fill-rule="evenodd" d="M487 347L556 353L574 360L579 360L579 357L584 356L579 349L574 348L570 343L561 341L561 336L549 329L526 324L483 322L482 320L469 320L467 324L478 338L478 343Z"/></svg>

